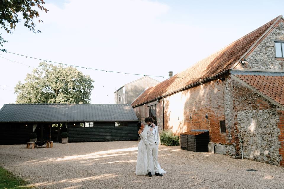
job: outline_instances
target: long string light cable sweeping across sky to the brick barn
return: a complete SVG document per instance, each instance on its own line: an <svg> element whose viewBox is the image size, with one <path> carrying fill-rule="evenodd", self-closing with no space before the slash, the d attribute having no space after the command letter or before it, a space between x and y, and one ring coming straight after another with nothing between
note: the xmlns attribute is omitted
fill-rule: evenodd
<svg viewBox="0 0 284 189"><path fill-rule="evenodd" d="M22 54L18 54L18 53L12 53L7 51L6 53L11 53L11 54L15 54L18 56L23 56L26 58L32 58L32 59L36 59L36 60L41 60L41 61L46 61L46 62L50 62L50 63L56 63L56 64L60 64L60 65L66 65L66 66L72 66L72 67L77 67L77 68L84 68L84 69L91 69L91 70L96 70L96 71L105 71L105 72L111 72L111 73L119 73L119 74L129 74L129 75L139 75L139 76L150 76L150 77L163 77L163 78L181 78L181 79L199 79L199 81L201 81L201 79L203 78L196 78L196 77L170 77L170 76L155 76L155 75L146 75L146 74L133 74L133 73L127 73L127 72L119 72L119 71L109 71L109 70L102 70L102 69L95 69L95 68L89 68L89 67L83 67L83 66L76 66L76 65L72 65L72 64L66 64L66 63L60 63L60 62L55 62L55 61L49 61L46 59L42 59L42 58L35 58L35 57L31 57L31 56L26 56L26 55L22 55ZM4 57L1 57L4 58ZM7 58L5 58L7 59ZM7 59L8 60L8 59ZM11 60L9 60L11 61ZM13 62L13 61L12 61ZM18 62L19 63L19 62ZM25 64L24 64L25 65ZM26 65L28 66L28 65Z"/></svg>

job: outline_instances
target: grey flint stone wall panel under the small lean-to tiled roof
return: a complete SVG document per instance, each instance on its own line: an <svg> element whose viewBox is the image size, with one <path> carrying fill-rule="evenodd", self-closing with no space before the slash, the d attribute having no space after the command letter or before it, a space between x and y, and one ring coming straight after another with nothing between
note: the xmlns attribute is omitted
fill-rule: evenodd
<svg viewBox="0 0 284 189"><path fill-rule="evenodd" d="M244 158L279 165L281 143L276 108L238 111L237 120Z"/></svg>

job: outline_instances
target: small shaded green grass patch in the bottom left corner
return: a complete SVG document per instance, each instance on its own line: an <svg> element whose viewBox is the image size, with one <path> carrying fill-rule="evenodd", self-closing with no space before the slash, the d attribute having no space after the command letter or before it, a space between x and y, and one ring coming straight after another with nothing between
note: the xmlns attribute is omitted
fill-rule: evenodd
<svg viewBox="0 0 284 189"><path fill-rule="evenodd" d="M26 186L28 184L25 180L0 167L0 189L35 188L33 186Z"/></svg>

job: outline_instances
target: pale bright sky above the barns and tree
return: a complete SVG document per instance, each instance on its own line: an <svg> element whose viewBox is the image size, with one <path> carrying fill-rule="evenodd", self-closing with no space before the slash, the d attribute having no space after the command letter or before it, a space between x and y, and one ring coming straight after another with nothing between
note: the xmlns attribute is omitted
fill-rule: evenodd
<svg viewBox="0 0 284 189"><path fill-rule="evenodd" d="M0 29L8 41L4 43L7 51L94 69L156 76L168 76L168 71L177 74L284 14L284 1L45 2L49 12L40 12L43 23L36 25L41 33L33 34L23 22L13 34ZM14 86L24 82L39 63L1 53L0 107L15 103ZM78 70L94 80L93 104L114 103L116 89L142 77ZM166 79L153 78L160 82Z"/></svg>

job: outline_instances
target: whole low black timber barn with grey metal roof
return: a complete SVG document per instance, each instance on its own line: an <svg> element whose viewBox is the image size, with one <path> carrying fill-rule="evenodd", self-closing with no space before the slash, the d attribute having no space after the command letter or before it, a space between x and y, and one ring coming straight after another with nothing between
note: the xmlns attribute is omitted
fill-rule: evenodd
<svg viewBox="0 0 284 189"><path fill-rule="evenodd" d="M0 110L0 144L38 140L69 142L138 140L138 118L126 104L5 104Z"/></svg>

